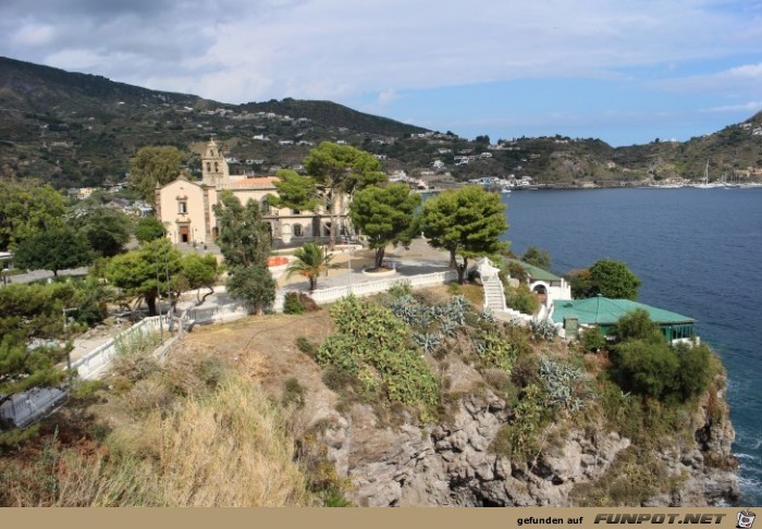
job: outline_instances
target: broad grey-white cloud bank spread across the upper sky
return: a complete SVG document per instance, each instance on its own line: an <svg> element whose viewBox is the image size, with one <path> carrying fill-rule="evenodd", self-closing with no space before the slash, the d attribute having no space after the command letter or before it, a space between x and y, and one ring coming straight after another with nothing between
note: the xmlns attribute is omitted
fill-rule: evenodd
<svg viewBox="0 0 762 529"><path fill-rule="evenodd" d="M605 77L754 49L760 26L759 13L710 0L474 0L467 10L457 0L38 0L33 14L27 5L0 5L0 49L13 57L164 79L164 89L195 84L230 102L381 90L385 104L406 89Z"/></svg>

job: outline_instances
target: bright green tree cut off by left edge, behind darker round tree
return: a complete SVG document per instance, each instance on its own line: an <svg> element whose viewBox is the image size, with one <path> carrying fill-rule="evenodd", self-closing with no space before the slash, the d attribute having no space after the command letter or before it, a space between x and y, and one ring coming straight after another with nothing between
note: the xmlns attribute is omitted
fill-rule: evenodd
<svg viewBox="0 0 762 529"><path fill-rule="evenodd" d="M0 250L63 225L63 196L49 184L0 180Z"/></svg>

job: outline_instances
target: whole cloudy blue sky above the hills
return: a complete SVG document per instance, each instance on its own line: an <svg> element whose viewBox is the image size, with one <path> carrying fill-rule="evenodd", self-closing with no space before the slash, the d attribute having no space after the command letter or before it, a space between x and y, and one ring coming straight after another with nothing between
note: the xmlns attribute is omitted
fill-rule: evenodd
<svg viewBox="0 0 762 529"><path fill-rule="evenodd" d="M762 110L762 0L0 0L0 56L493 143L620 146Z"/></svg>

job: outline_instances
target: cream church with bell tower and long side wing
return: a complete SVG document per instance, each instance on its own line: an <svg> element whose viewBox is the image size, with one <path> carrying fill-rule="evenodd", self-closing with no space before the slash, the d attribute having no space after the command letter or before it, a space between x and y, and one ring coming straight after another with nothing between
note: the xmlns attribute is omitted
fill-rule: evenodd
<svg viewBox="0 0 762 529"><path fill-rule="evenodd" d="M156 188L156 217L167 226L173 244L206 244L217 238L219 227L213 206L219 194L231 192L246 205L248 200L259 204L263 220L275 246L323 241L330 236L330 213L299 211L291 208L274 208L268 204L268 195L278 195L276 176L247 177L231 175L225 157L214 140L209 142L201 156L200 182L192 182L184 175L163 187ZM346 204L339 205L342 211ZM339 236L347 236L346 213L339 217Z"/></svg>

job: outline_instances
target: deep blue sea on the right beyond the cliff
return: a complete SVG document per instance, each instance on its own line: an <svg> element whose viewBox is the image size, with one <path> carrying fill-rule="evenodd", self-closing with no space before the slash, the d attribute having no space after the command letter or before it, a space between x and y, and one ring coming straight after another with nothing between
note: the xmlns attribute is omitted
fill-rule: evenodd
<svg viewBox="0 0 762 529"><path fill-rule="evenodd" d="M504 235L550 253L558 274L610 258L638 300L697 320L728 372L740 505L762 505L762 188L519 190Z"/></svg>

